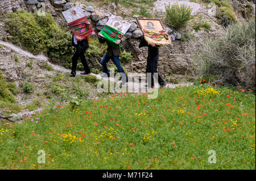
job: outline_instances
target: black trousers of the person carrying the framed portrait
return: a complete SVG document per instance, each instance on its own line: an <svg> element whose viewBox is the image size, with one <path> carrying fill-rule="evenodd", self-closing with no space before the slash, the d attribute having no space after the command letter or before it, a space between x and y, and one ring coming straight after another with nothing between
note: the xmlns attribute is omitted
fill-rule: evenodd
<svg viewBox="0 0 256 181"><path fill-rule="evenodd" d="M158 83L159 85L164 84L163 78L160 76L158 73L158 60L159 60L159 54L155 56L147 56L147 68L146 68L146 73L151 73L151 79L150 77L147 77L147 84L148 86L154 86L154 73L157 73L158 77ZM156 77L155 77L156 78ZM151 82L151 85L150 85Z"/></svg>

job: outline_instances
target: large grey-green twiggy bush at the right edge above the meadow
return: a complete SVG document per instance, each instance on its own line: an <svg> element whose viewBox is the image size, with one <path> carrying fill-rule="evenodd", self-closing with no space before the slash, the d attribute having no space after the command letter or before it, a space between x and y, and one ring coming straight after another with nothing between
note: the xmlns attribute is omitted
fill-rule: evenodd
<svg viewBox="0 0 256 181"><path fill-rule="evenodd" d="M225 36L205 41L192 65L196 75L215 75L226 85L255 90L255 19L234 23Z"/></svg>

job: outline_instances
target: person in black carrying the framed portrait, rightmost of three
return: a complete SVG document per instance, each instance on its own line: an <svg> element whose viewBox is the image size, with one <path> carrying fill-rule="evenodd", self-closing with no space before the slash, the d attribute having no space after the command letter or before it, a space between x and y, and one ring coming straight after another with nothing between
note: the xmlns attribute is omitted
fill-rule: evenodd
<svg viewBox="0 0 256 181"><path fill-rule="evenodd" d="M166 86L166 83L157 71L159 60L159 46L155 44L148 44L143 36L142 41L139 44L139 48L141 47L148 47L146 73L151 73L151 80L149 77L147 77L147 86L154 87L154 73L158 74L158 83L160 87Z"/></svg>

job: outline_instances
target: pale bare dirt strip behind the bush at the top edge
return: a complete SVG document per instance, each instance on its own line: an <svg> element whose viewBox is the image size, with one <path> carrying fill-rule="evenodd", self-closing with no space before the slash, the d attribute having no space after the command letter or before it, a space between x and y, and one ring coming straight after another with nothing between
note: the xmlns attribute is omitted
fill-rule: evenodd
<svg viewBox="0 0 256 181"><path fill-rule="evenodd" d="M182 0L182 1L178 1L178 0L158 0L154 3L155 7L154 10L158 10L158 11L163 11L165 12L165 6L166 5L174 5L175 3L177 3L178 5L188 5L189 7L192 8L192 15L197 14L197 12L200 11L200 9L202 8L201 5L199 5L199 3L195 3L195 2L190 2L188 0Z"/></svg>

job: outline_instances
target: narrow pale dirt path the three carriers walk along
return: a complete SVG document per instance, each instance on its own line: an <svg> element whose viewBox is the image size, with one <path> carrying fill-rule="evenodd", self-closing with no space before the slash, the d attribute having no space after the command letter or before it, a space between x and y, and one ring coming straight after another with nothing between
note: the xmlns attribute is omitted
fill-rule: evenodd
<svg viewBox="0 0 256 181"><path fill-rule="evenodd" d="M39 54L39 55L35 56L34 54L32 54L30 52L27 52L26 50L23 50L20 47L14 45L14 44L7 43L7 42L1 41L1 40L0 40L0 45L3 45L5 47L9 47L10 49L14 50L15 52L17 52L19 54L22 54L24 56L27 56L29 58L35 58L35 59L38 59L38 60L47 60L47 63L52 66L53 70L60 71L61 73L69 73L70 72L69 69L66 69L63 66L52 64L51 62L49 62L48 58L46 56L44 56L43 54ZM77 71L77 75L80 75L80 73L81 73L81 71ZM100 74L94 74L94 73L91 73L91 74L96 76L98 79L102 79ZM130 77L136 77L138 75L136 73L134 73L134 74L129 74L129 76ZM145 78L146 77L142 77L142 79L145 79ZM106 78L103 78L103 79L106 79ZM121 83L121 81L118 81L114 78L109 78L109 81ZM167 87L170 87L170 88L173 89L176 86L189 86L189 85L191 85L191 83L184 83L184 84L177 84L177 85L168 83ZM133 87L133 89L130 90L130 91L138 91L138 90L141 90L142 88L144 88L145 85L141 85L141 83L139 83L139 82L128 82L127 86L128 87ZM141 86L143 86L143 87L141 87ZM155 88L159 88L159 87L156 86Z"/></svg>

